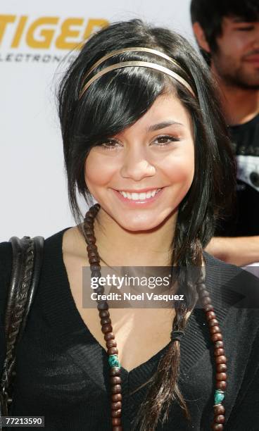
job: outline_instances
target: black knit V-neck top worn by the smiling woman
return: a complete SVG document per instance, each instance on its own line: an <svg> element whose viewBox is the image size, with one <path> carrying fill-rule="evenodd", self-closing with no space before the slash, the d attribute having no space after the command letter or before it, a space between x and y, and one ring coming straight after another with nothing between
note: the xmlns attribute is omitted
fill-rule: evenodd
<svg viewBox="0 0 259 431"><path fill-rule="evenodd" d="M62 253L65 230L45 240L39 286L17 351L11 414L44 416L46 431L110 431L108 356L91 335L72 297ZM204 253L204 258L206 288L220 323L227 356L224 430L258 431L259 280L209 254ZM1 243L0 371L5 354L4 310L11 263L11 244ZM99 318L97 311L96 318ZM149 388L149 383L145 383L156 372L168 346L130 372L122 367L123 431L132 431L133 420ZM210 430L215 361L201 308L194 308L189 316L180 351L179 388L191 422L173 402L168 422L159 423L156 430Z"/></svg>

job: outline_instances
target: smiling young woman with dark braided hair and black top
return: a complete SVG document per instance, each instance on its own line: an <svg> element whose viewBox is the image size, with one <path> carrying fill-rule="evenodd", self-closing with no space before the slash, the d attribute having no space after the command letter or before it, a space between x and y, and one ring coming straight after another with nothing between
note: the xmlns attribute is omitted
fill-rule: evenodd
<svg viewBox="0 0 259 431"><path fill-rule="evenodd" d="M47 431L258 430L255 279L203 252L235 177L206 65L174 32L117 23L84 45L58 96L77 226L45 241L11 414L44 416ZM8 243L0 262L4 316ZM99 280L122 266L177 267L184 299L120 308L100 284L84 308L82 268Z"/></svg>

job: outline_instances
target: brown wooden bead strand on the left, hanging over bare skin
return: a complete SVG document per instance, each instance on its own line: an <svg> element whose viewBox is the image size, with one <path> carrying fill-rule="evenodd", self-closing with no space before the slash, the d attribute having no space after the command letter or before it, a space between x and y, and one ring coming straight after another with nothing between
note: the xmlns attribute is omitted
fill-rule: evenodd
<svg viewBox="0 0 259 431"><path fill-rule="evenodd" d="M92 206L84 218L84 235L87 241L87 254L90 263L91 277L101 277L100 257L96 246L96 238L94 237L94 218L98 213L99 208L99 204ZM103 294L104 287L99 285L99 287L95 289L95 292L97 294ZM103 332L103 336L106 341L107 354L109 358L116 358L118 355L118 349L117 343L115 342L115 335L113 334L110 313L108 311L108 302L102 300L97 300L96 302L99 310L101 332ZM122 431L122 380L120 377L120 364L116 359L115 364L119 366L110 366L110 414L113 431Z"/></svg>

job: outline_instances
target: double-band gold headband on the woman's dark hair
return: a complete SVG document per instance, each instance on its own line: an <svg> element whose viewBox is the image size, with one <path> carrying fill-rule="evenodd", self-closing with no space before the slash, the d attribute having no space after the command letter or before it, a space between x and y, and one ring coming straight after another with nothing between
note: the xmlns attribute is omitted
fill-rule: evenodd
<svg viewBox="0 0 259 431"><path fill-rule="evenodd" d="M169 57L167 54L164 54L163 52L157 51L156 49L151 49L151 48L144 48L144 47L134 47L134 48L124 48L124 49L118 49L118 51L113 51L110 52L108 54L106 54L105 56L103 56L102 58L100 58L98 61L96 61L96 63L94 63L94 65L91 66L91 68L88 70L87 74L84 76L84 81L87 79L87 77L90 75L90 73L97 67L99 66L101 63L103 63L103 61L106 61L108 58L111 58L117 54L122 54L124 52L129 52L129 51L142 51L142 52L148 52L151 54L155 54L156 56L165 58L166 60L170 61L170 63L173 63L175 65L177 65L179 68L181 68L181 66L177 63L177 61L173 60L171 57ZM173 77L175 80L177 80L178 82L180 82L182 85L184 85L184 87L186 87L189 92L191 93L192 96L195 97L194 91L191 88L191 86L188 84L188 82L186 80L184 80L184 78L180 75L178 75L177 73L173 72L172 70L165 68L163 65L159 65L157 63L149 63L146 61L122 61L120 63L115 63L113 65L108 66L107 68L104 68L103 70L100 70L100 72L96 73L96 75L94 75L93 77L91 77L91 79L87 82L87 84L85 84L82 87L82 90L80 92L80 96L79 98L82 97L82 95L84 94L84 92L87 90L87 88L95 81L97 80L99 77L105 75L106 73L110 72L111 70L116 70L116 69L121 69L121 68L128 68L128 67L144 67L144 68L151 68L154 70L159 70L160 72L165 73L166 75L169 75L170 77Z"/></svg>

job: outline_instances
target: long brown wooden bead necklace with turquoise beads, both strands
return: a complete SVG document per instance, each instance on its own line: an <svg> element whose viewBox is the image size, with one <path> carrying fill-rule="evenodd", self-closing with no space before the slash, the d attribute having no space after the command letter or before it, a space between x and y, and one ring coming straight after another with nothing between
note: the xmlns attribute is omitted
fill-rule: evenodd
<svg viewBox="0 0 259 431"><path fill-rule="evenodd" d="M101 277L100 256L96 246L96 238L94 237L94 218L100 209L99 204L91 206L87 211L84 218L84 235L87 242L87 254L90 263L91 277ZM211 304L210 294L206 290L205 275L198 278L196 289L198 292L201 305L206 313L206 320L210 330L210 339L214 344L214 357L216 366L216 382L215 382L215 404L214 420L211 429L214 431L221 431L225 423L225 407L222 401L225 398L225 389L227 387L227 358L225 356L224 344L222 341L222 333L218 320L215 315L213 305ZM99 285L95 289L97 294L103 294L104 287ZM106 340L108 363L110 365L110 392L111 392L111 421L113 431L122 431L122 380L120 377L120 362L118 360L118 348L113 333L113 326L110 320L110 313L108 311L108 302L97 300L97 309L101 321L101 331L103 332L104 339ZM171 332L171 340L180 341L183 333L181 331Z"/></svg>

